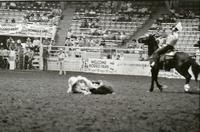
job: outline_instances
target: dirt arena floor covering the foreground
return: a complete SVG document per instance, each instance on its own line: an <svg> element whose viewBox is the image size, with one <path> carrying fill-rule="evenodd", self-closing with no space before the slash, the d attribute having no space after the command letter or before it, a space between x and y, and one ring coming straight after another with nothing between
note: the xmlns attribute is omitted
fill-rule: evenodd
<svg viewBox="0 0 200 132"><path fill-rule="evenodd" d="M107 80L115 94L67 94L72 75ZM0 132L199 132L200 95L159 80L168 88L150 93L149 77L1 70Z"/></svg>

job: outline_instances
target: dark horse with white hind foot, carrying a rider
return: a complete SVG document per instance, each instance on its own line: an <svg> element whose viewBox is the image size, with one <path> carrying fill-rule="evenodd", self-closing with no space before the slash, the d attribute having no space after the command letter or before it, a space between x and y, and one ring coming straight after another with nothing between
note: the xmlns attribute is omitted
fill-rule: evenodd
<svg viewBox="0 0 200 132"><path fill-rule="evenodd" d="M156 38L154 35L149 35L147 37L139 38L139 43L144 43L145 45L148 45L148 55L153 56L154 51L158 49L158 42L156 41ZM165 58L165 57L163 57ZM150 62L152 60L150 59ZM177 72L179 72L182 76L185 77L186 82L184 85L185 92L189 91L189 83L191 80L191 75L188 72L188 69L192 66L192 72L194 74L195 80L198 79L198 74L200 73L200 65L198 65L195 60L189 56L187 53L184 52L176 52L172 59L161 59L153 66L151 67L151 87L149 89L150 92L154 89L154 81L156 82L157 87L162 91L163 86L158 82L158 73L160 69L163 69L163 67L167 67L167 70L170 70L172 68L175 68ZM165 69L166 70L166 69Z"/></svg>

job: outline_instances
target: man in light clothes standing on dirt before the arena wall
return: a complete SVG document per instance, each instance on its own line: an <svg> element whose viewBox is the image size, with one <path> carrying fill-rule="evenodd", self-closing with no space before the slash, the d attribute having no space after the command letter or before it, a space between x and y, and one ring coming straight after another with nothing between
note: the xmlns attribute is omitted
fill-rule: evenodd
<svg viewBox="0 0 200 132"><path fill-rule="evenodd" d="M66 71L64 68L64 60L65 60L66 54L64 53L63 49L61 48L58 53L58 64L59 64L59 75L66 75Z"/></svg>

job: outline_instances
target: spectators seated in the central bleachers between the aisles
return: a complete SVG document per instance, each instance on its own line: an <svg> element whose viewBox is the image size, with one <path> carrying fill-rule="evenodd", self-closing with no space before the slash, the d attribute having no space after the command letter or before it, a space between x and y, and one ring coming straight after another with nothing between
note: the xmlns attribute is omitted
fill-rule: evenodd
<svg viewBox="0 0 200 132"><path fill-rule="evenodd" d="M86 43L85 46L124 46L130 35L135 31L135 29L131 32L127 31L126 26L130 25L126 25L126 22L139 21L140 19L136 18L150 15L152 7L151 2L141 4L141 2L136 1L91 2L85 6L80 6L76 9L73 20L80 21L80 25L78 24L75 28L79 28L81 35L77 35L73 28L70 29L67 33L65 45L82 46ZM103 25L106 25L105 22L108 21L106 15L112 15L108 23L108 26L113 27L112 29L108 26L103 27ZM118 27L123 26L123 28L116 29L115 27L120 22L122 24ZM88 30L86 31L84 28Z"/></svg>

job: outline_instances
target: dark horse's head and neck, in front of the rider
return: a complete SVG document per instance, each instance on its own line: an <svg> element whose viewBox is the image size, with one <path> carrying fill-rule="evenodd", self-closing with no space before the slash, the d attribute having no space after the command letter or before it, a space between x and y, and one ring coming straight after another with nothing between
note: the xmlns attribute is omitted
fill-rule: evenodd
<svg viewBox="0 0 200 132"><path fill-rule="evenodd" d="M141 37L138 39L138 42L148 46L149 56L151 56L153 52L158 48L158 42L154 34L149 34L145 37Z"/></svg>

